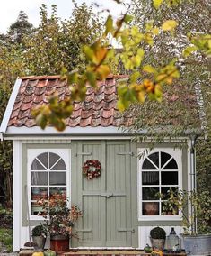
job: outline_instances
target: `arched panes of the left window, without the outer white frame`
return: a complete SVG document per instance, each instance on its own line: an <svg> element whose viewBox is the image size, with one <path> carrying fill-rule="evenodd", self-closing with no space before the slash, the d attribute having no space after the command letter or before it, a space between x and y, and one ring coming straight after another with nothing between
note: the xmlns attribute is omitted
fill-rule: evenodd
<svg viewBox="0 0 211 256"><path fill-rule="evenodd" d="M38 154L30 166L31 215L38 215L37 200L56 194L66 200L66 163L57 153L45 151Z"/></svg>

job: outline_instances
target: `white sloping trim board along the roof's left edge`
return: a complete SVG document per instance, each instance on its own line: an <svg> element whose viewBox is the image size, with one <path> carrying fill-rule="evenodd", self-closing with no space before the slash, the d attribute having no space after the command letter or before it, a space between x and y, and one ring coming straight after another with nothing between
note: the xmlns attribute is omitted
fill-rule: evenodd
<svg viewBox="0 0 211 256"><path fill-rule="evenodd" d="M0 133L5 133L6 132L6 128L7 128L7 125L9 123L12 111L13 111L13 105L14 105L16 96L18 95L18 91L19 91L19 88L20 88L21 84L22 84L22 79L17 78L16 81L15 81L15 84L14 84L13 91L12 91L12 94L10 96L9 102L6 106L6 110L4 112L3 121L2 121L2 124L1 124L1 127L0 127Z"/></svg>

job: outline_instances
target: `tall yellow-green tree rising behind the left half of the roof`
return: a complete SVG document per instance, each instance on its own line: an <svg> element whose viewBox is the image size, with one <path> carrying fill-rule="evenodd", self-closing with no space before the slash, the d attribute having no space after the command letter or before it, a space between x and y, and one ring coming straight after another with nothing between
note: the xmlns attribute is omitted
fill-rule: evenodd
<svg viewBox="0 0 211 256"><path fill-rule="evenodd" d="M55 75L65 67L68 70L84 66L83 44L100 36L101 23L92 13L92 7L76 5L72 17L61 21L57 6L52 5L48 18L46 5L40 7L40 25L33 36L25 38L28 72L34 75ZM39 52L39 54L38 54Z"/></svg>

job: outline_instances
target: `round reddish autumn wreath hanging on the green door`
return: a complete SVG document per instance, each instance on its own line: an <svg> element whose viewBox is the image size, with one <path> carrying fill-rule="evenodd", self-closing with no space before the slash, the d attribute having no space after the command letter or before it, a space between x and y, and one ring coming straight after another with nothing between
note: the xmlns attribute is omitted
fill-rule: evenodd
<svg viewBox="0 0 211 256"><path fill-rule="evenodd" d="M83 174L87 179L101 176L101 163L99 160L87 160L84 162Z"/></svg>

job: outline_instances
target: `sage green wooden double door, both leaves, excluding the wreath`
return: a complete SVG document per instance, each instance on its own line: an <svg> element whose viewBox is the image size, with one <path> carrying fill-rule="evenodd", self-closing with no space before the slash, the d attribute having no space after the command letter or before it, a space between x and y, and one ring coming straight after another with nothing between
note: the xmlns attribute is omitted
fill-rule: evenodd
<svg viewBox="0 0 211 256"><path fill-rule="evenodd" d="M83 210L72 247L137 247L136 157L129 141L77 142L72 152L72 203ZM101 161L101 176L82 174L86 160Z"/></svg>

